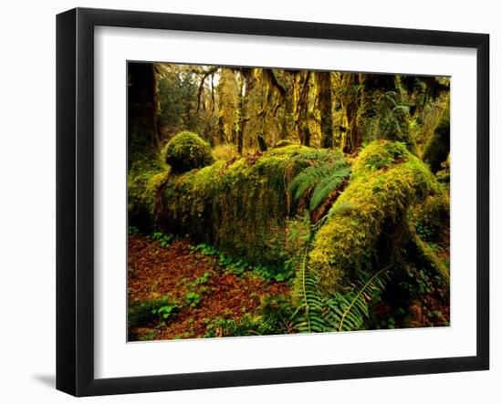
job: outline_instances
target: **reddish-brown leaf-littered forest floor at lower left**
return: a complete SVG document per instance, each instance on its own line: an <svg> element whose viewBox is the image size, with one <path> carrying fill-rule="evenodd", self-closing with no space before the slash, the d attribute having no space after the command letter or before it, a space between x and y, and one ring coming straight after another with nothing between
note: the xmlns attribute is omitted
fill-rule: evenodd
<svg viewBox="0 0 502 404"><path fill-rule="evenodd" d="M210 330L219 337L219 320L253 314L264 296L290 293L288 281L232 274L216 257L196 251L186 240L162 247L150 237L131 234L128 286L130 307L162 299L159 306L168 306L165 320L157 316L148 324L130 326L136 340L207 337Z"/></svg>

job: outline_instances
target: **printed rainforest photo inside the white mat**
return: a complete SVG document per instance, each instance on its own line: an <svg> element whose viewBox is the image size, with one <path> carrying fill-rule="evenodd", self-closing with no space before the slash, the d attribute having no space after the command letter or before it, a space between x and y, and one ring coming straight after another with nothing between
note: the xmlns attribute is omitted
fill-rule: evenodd
<svg viewBox="0 0 502 404"><path fill-rule="evenodd" d="M129 62L128 341L450 326L450 78Z"/></svg>

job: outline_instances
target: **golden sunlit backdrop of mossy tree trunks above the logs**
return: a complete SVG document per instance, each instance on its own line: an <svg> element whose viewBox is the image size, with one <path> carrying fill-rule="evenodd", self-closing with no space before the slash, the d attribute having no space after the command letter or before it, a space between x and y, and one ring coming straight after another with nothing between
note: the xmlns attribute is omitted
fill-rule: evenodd
<svg viewBox="0 0 502 404"><path fill-rule="evenodd" d="M449 104L449 78L158 64L160 141L181 130L239 154L279 140L351 153L400 140L419 155ZM447 157L448 139L437 166ZM432 150L431 150L432 151ZM437 169L437 167L436 167Z"/></svg>

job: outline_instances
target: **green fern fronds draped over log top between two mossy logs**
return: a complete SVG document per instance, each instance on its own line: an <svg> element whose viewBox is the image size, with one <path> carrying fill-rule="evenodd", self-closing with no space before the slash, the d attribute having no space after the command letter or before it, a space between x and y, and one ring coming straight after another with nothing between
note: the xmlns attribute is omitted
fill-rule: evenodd
<svg viewBox="0 0 502 404"><path fill-rule="evenodd" d="M350 168L342 160L310 166L290 182L288 191L293 195L293 200L298 202L300 198L314 190L310 199L310 211L313 211L349 174Z"/></svg>

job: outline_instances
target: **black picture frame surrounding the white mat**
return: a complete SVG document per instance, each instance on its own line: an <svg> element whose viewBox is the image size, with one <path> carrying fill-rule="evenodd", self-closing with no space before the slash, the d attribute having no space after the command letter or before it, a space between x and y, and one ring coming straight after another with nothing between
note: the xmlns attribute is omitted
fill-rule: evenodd
<svg viewBox="0 0 502 404"><path fill-rule="evenodd" d="M94 27L289 36L476 49L476 356L94 377ZM375 26L76 8L57 16L57 388L75 396L489 368L489 36ZM475 252L473 251L473 254Z"/></svg>

